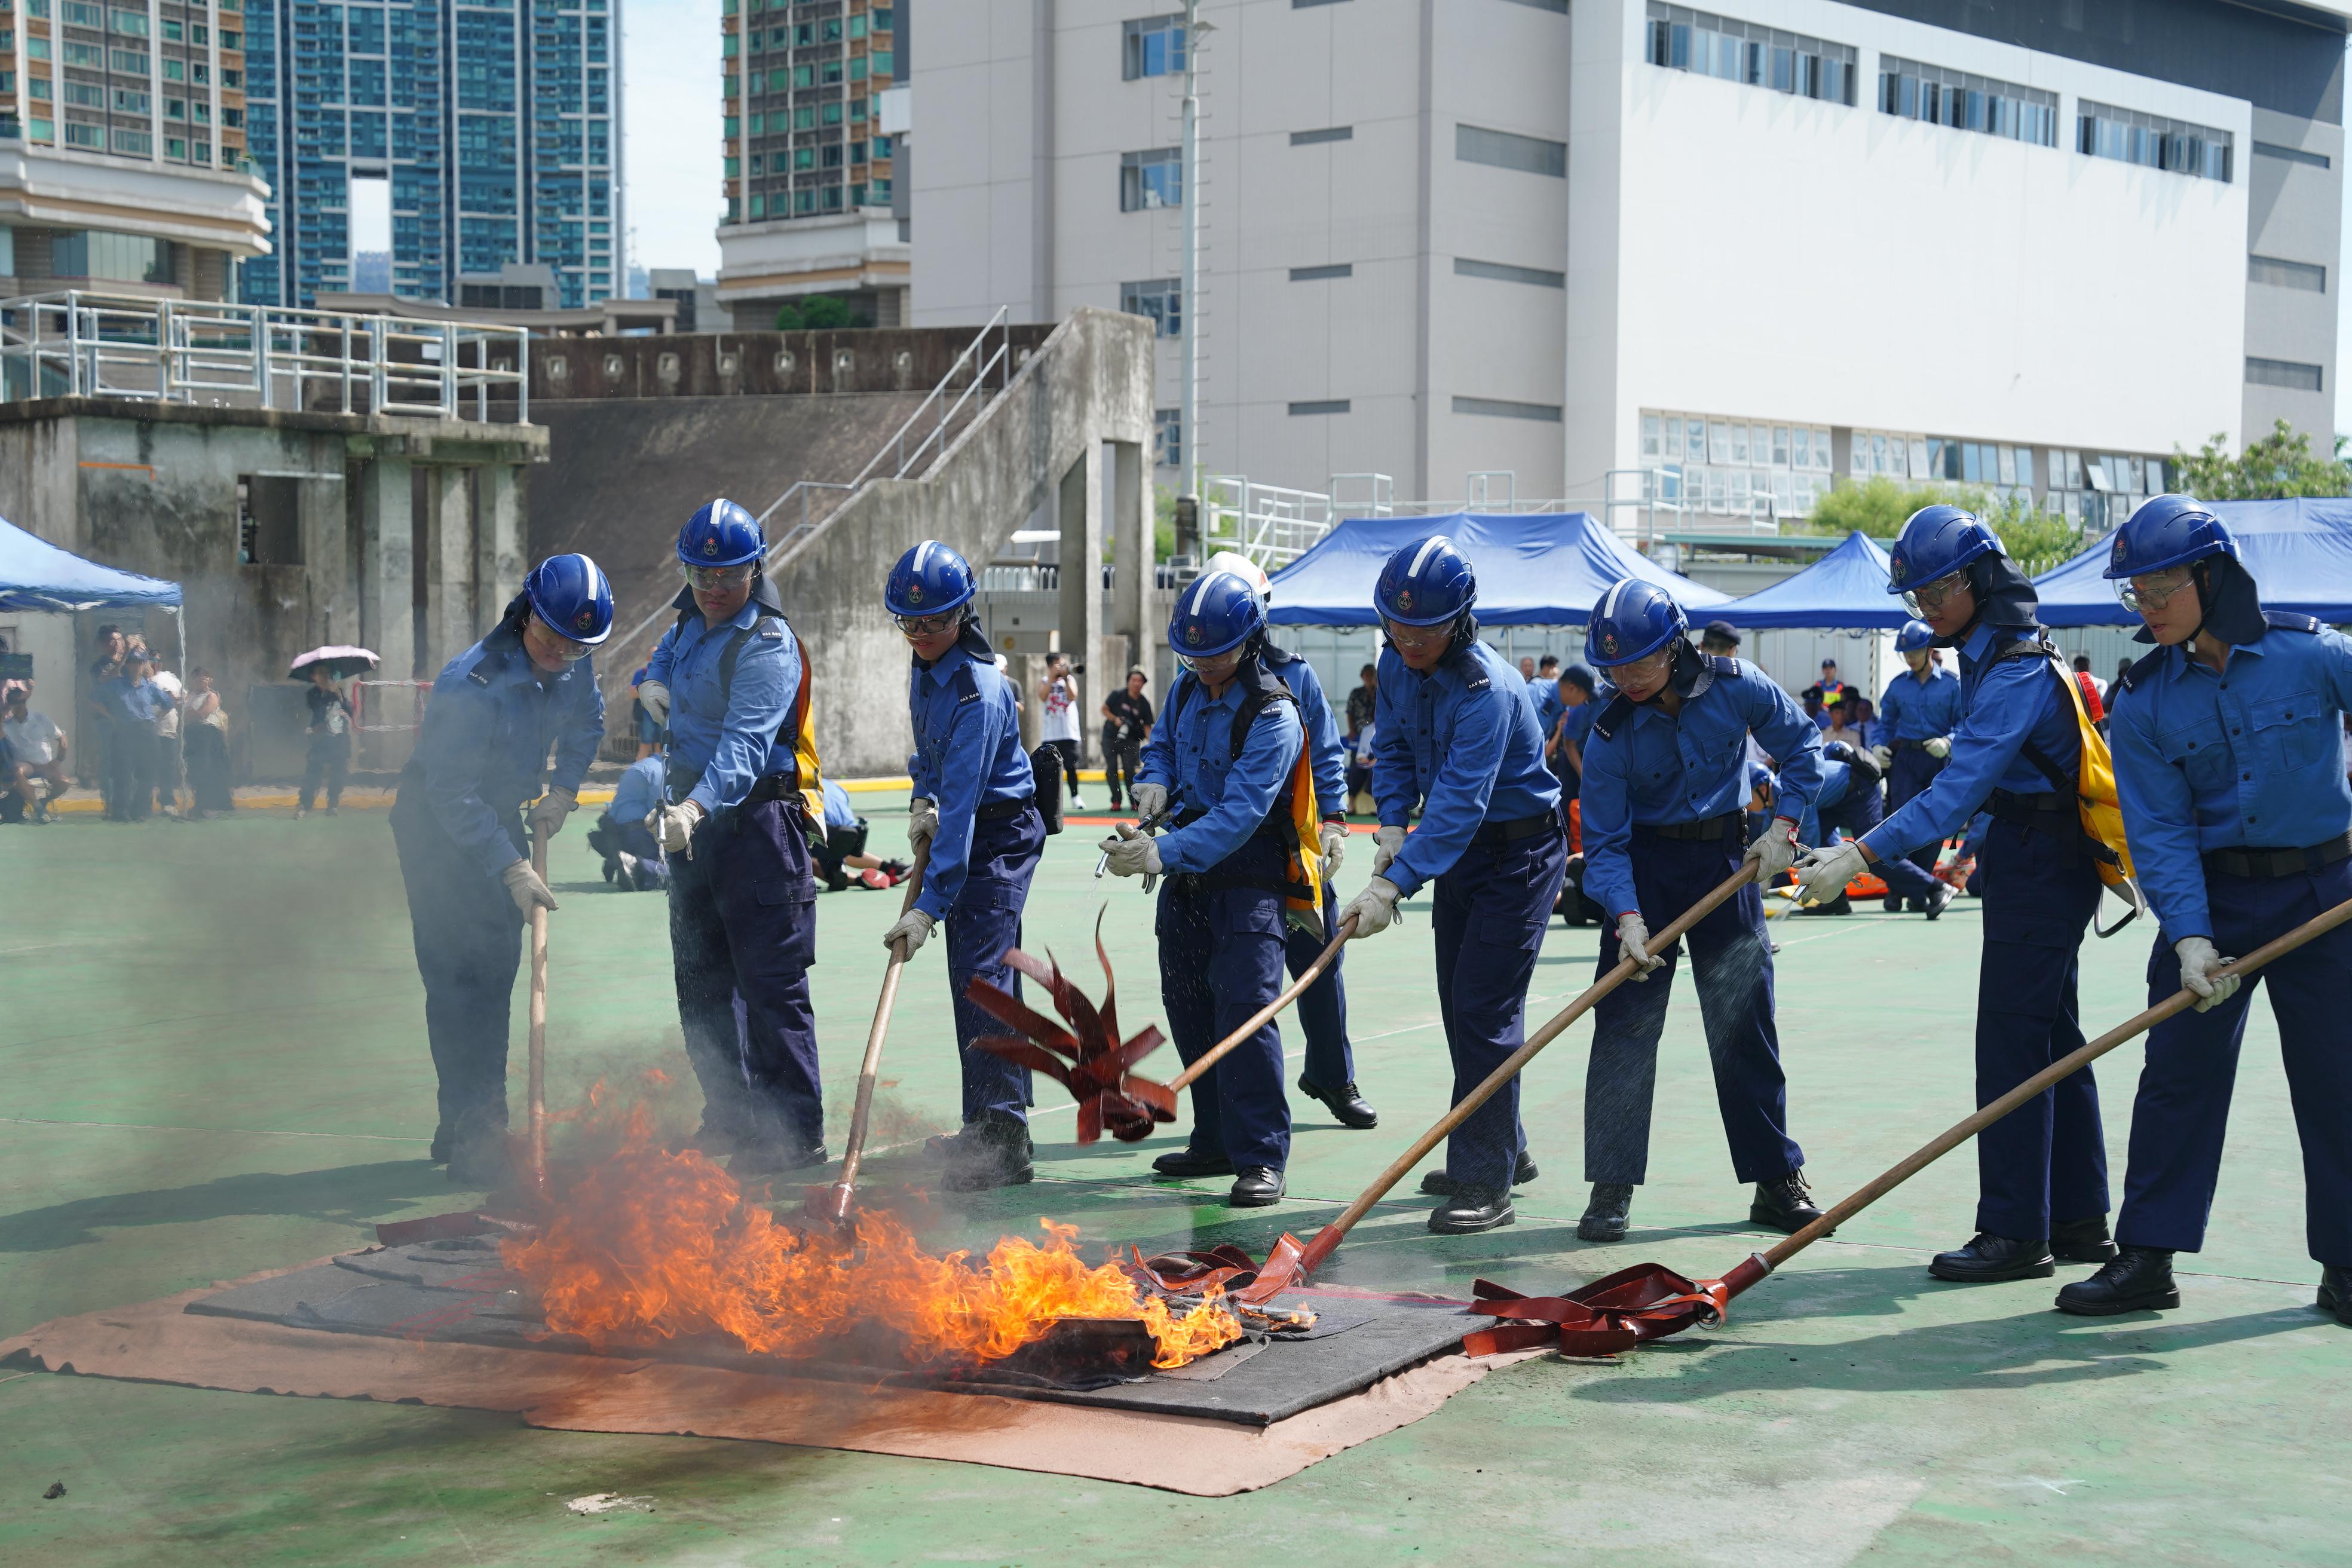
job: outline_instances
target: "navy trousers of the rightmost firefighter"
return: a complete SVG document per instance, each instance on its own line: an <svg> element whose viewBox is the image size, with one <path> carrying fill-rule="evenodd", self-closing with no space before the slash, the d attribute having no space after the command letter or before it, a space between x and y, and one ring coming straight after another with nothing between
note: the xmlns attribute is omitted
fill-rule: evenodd
<svg viewBox="0 0 2352 1568"><path fill-rule="evenodd" d="M2352 898L2352 860L2300 877L2206 872L2213 945L2253 952ZM2352 1267L2352 929L2338 926L2258 969L2211 1013L2166 1018L2147 1034L2147 1067L2131 1105L2131 1166L2114 1237L2129 1246L2194 1253L2204 1246L2230 1088L2256 987L2270 987L2286 1093L2303 1135L2303 1229L2312 1258ZM2180 990L2180 954L2159 936L2147 954L2147 999Z"/></svg>

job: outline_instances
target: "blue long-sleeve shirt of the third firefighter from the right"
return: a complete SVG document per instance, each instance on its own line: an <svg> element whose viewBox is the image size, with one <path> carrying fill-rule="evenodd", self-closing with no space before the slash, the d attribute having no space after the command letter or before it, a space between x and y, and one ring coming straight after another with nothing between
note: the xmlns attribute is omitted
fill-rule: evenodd
<svg viewBox="0 0 2352 1568"><path fill-rule="evenodd" d="M1780 762L1773 816L1802 823L1820 795L1820 731L1797 701L1738 658L1712 663L1682 712L1635 705L1585 743L1585 893L1611 917L1642 907L1628 844L1635 825L1703 823L1748 804L1748 736Z"/></svg>

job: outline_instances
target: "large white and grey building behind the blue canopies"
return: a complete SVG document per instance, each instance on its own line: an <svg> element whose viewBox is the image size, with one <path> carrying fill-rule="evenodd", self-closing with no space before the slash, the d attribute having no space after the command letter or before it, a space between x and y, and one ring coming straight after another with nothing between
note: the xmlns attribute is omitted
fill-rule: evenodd
<svg viewBox="0 0 2352 1568"><path fill-rule="evenodd" d="M1150 5L915 0L910 320L1197 331L1207 473L2079 515L2216 433L2333 435L2345 7L1202 0L1183 190Z"/></svg>

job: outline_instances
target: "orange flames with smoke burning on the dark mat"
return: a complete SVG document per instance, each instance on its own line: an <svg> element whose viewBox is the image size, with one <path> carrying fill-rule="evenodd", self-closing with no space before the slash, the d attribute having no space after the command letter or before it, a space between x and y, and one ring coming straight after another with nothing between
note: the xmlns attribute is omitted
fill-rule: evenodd
<svg viewBox="0 0 2352 1568"><path fill-rule="evenodd" d="M1152 1366L1183 1366L1242 1338L1214 1295L1176 1316L1117 1265L1089 1267L1075 1225L1040 1220L1044 1246L1007 1237L983 1262L922 1251L882 1211L858 1211L851 1237L800 1232L746 1204L703 1154L663 1150L642 1100L621 1105L597 1084L581 1133L600 1157L562 1173L541 1229L501 1251L548 1328L597 1349L717 1331L755 1354L797 1356L858 1331L887 1333L917 1366L955 1366L1004 1359L1077 1316L1141 1319Z"/></svg>

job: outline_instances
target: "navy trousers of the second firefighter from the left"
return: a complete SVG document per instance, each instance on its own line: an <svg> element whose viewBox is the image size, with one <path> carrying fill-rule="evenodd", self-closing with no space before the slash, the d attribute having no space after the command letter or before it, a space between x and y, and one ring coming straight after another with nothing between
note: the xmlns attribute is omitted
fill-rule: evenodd
<svg viewBox="0 0 2352 1568"><path fill-rule="evenodd" d="M816 1077L816 882L783 802L706 818L670 856L670 964L703 1117L736 1138L814 1150L826 1140Z"/></svg>

